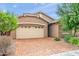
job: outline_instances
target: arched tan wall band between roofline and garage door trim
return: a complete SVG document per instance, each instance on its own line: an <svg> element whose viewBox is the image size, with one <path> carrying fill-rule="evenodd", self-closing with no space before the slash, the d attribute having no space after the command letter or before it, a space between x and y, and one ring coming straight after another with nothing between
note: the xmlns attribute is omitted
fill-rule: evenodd
<svg viewBox="0 0 79 59"><path fill-rule="evenodd" d="M39 23L39 24L45 24L47 26L47 22L44 21L41 18L34 17L34 16L25 16L25 17L20 17L19 22L30 22L30 23Z"/></svg>

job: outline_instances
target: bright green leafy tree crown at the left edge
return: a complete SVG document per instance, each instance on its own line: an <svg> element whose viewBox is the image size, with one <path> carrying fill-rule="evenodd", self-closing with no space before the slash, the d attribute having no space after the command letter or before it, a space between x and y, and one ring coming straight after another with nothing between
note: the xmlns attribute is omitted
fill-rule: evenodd
<svg viewBox="0 0 79 59"><path fill-rule="evenodd" d="M8 32L17 28L17 17L9 12L0 12L0 31Z"/></svg>

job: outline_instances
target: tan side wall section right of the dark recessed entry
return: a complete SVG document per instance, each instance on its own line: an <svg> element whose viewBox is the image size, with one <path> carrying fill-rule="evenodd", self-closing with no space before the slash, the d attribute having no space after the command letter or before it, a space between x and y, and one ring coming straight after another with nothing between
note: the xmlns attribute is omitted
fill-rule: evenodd
<svg viewBox="0 0 79 59"><path fill-rule="evenodd" d="M49 26L49 36L50 37L60 37L60 30L59 30L59 24L53 23Z"/></svg>

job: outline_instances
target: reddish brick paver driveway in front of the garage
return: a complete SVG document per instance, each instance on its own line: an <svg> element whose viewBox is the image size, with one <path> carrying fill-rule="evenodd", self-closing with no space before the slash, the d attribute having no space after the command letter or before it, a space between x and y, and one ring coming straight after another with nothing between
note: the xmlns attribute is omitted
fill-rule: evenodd
<svg viewBox="0 0 79 59"><path fill-rule="evenodd" d="M21 39L16 40L16 53L19 56L40 56L52 55L64 51L76 50L78 47L72 46L63 40L54 41L53 38L43 39Z"/></svg>

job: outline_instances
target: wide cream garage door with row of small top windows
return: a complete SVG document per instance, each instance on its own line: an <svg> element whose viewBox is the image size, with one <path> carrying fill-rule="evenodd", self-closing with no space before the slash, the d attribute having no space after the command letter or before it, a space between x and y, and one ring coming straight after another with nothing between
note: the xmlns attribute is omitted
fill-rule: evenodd
<svg viewBox="0 0 79 59"><path fill-rule="evenodd" d="M43 27L27 26L27 27L19 27L16 30L17 39L42 38L42 37L44 37L44 28Z"/></svg>

